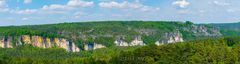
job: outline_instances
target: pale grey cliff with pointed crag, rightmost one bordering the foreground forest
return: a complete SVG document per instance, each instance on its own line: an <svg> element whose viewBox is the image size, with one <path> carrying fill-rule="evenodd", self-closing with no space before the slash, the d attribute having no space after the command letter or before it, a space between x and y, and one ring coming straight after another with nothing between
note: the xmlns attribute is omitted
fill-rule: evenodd
<svg viewBox="0 0 240 64"><path fill-rule="evenodd" d="M156 45L162 45L167 43L183 42L182 34L177 32L165 33L164 39L155 42Z"/></svg>

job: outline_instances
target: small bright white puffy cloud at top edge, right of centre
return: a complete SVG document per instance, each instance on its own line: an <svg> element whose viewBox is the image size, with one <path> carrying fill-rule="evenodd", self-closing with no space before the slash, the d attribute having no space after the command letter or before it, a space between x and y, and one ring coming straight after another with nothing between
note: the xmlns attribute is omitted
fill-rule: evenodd
<svg viewBox="0 0 240 64"><path fill-rule="evenodd" d="M177 1L173 2L172 5L176 5L180 8L186 8L187 6L190 5L190 3L186 0L177 0Z"/></svg>

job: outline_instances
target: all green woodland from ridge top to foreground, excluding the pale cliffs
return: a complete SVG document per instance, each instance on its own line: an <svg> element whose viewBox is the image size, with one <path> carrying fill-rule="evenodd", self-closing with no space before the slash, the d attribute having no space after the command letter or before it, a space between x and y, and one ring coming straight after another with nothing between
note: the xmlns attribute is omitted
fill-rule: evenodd
<svg viewBox="0 0 240 64"><path fill-rule="evenodd" d="M154 44L171 32L181 33L184 42ZM0 27L3 41L11 36L11 43L15 43L21 35L66 38L79 48L93 42L107 47L69 52L59 47L23 44L0 48L0 64L238 64L240 61L239 23L105 21ZM113 43L118 37L130 42L136 36L142 36L147 45L124 47Z"/></svg>

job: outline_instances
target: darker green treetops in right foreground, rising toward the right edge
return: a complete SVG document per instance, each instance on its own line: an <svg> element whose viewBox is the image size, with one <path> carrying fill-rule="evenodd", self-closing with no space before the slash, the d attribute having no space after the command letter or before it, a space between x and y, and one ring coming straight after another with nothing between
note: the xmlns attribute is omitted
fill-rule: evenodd
<svg viewBox="0 0 240 64"><path fill-rule="evenodd" d="M120 64L237 64L239 37L203 39L162 46L149 45L123 52L111 62ZM238 50L237 50L238 49Z"/></svg>

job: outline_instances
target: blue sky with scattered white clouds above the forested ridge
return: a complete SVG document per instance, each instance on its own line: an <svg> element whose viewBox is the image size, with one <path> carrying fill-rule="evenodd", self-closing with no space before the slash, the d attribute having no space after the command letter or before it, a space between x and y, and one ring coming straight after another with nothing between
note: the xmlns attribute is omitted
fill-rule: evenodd
<svg viewBox="0 0 240 64"><path fill-rule="evenodd" d="M0 0L0 26L145 20L231 23L240 0Z"/></svg>

